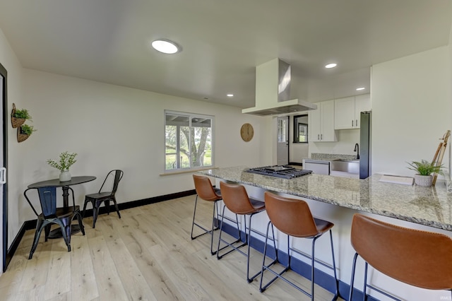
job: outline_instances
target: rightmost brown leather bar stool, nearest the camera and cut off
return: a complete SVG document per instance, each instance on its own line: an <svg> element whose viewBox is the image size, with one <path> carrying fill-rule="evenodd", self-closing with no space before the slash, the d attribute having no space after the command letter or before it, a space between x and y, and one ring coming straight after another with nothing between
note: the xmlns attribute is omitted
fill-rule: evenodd
<svg viewBox="0 0 452 301"><path fill-rule="evenodd" d="M367 284L368 264L386 276L419 288L452 289L452 240L446 235L403 228L356 213L352 221L351 240L356 254L348 300L352 300L358 255L365 261L363 300L366 288L399 300Z"/></svg>

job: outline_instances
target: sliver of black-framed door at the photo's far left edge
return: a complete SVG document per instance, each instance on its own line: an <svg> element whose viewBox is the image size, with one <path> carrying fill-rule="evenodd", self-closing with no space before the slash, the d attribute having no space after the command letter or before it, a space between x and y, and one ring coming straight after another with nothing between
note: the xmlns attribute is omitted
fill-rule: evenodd
<svg viewBox="0 0 452 301"><path fill-rule="evenodd" d="M8 198L6 197L6 69L0 64L0 252L1 271L6 271L8 249Z"/></svg>

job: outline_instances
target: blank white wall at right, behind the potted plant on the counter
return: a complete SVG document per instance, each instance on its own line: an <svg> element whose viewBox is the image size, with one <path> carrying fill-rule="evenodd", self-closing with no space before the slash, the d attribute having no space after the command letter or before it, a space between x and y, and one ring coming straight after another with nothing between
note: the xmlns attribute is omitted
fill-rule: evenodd
<svg viewBox="0 0 452 301"><path fill-rule="evenodd" d="M451 129L449 59L448 47L439 47L373 66L374 173L414 175L407 161L434 157L439 138Z"/></svg>

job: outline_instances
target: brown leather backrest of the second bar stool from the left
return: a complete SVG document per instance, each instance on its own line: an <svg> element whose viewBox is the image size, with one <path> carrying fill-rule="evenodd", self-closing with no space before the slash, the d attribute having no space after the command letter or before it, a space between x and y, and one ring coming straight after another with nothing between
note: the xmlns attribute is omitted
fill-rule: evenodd
<svg viewBox="0 0 452 301"><path fill-rule="evenodd" d="M220 182L220 190L225 206L236 214L249 214L255 211L249 201L245 187L239 184Z"/></svg>

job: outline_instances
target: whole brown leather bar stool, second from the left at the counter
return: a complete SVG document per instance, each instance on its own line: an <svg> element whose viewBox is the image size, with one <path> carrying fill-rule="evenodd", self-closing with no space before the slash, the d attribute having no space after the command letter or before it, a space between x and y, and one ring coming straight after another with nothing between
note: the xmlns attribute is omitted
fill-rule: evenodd
<svg viewBox="0 0 452 301"><path fill-rule="evenodd" d="M251 220L253 216L256 213L265 211L266 205L263 201L258 201L256 199L250 199L248 194L246 193L245 187L239 184L228 184L225 182L220 182L220 190L223 197L223 202L225 203L225 207L223 207L222 210L222 216L221 216L221 225L220 225L220 237L218 239L218 252L217 252L217 259L222 259L223 256L226 254L230 254L230 252L237 251L240 254L246 256L246 280L251 283L251 281L256 278L261 271L258 271L254 276L249 276L249 250L250 250L250 244L251 244ZM221 238L222 230L223 230L223 220L225 218L225 208L229 209L232 213L235 214L235 220L232 218L227 218L227 220L232 221L233 223L237 224L237 232L239 235L239 238L235 240L234 242L227 242ZM237 215L244 216L244 225L245 225L245 240L242 242L242 235L241 231L239 229L239 218ZM249 227L246 227L246 216L249 216ZM246 233L246 230L248 230L248 233ZM255 231L254 231L255 232ZM256 232L257 233L257 232ZM222 247L220 249L220 242L224 242L226 244L225 247ZM241 243L237 245L237 243ZM248 252L245 253L241 249L241 247L246 246L248 244ZM225 249L227 247L230 247L231 249L226 252L225 254L220 255L220 251L222 249Z"/></svg>

